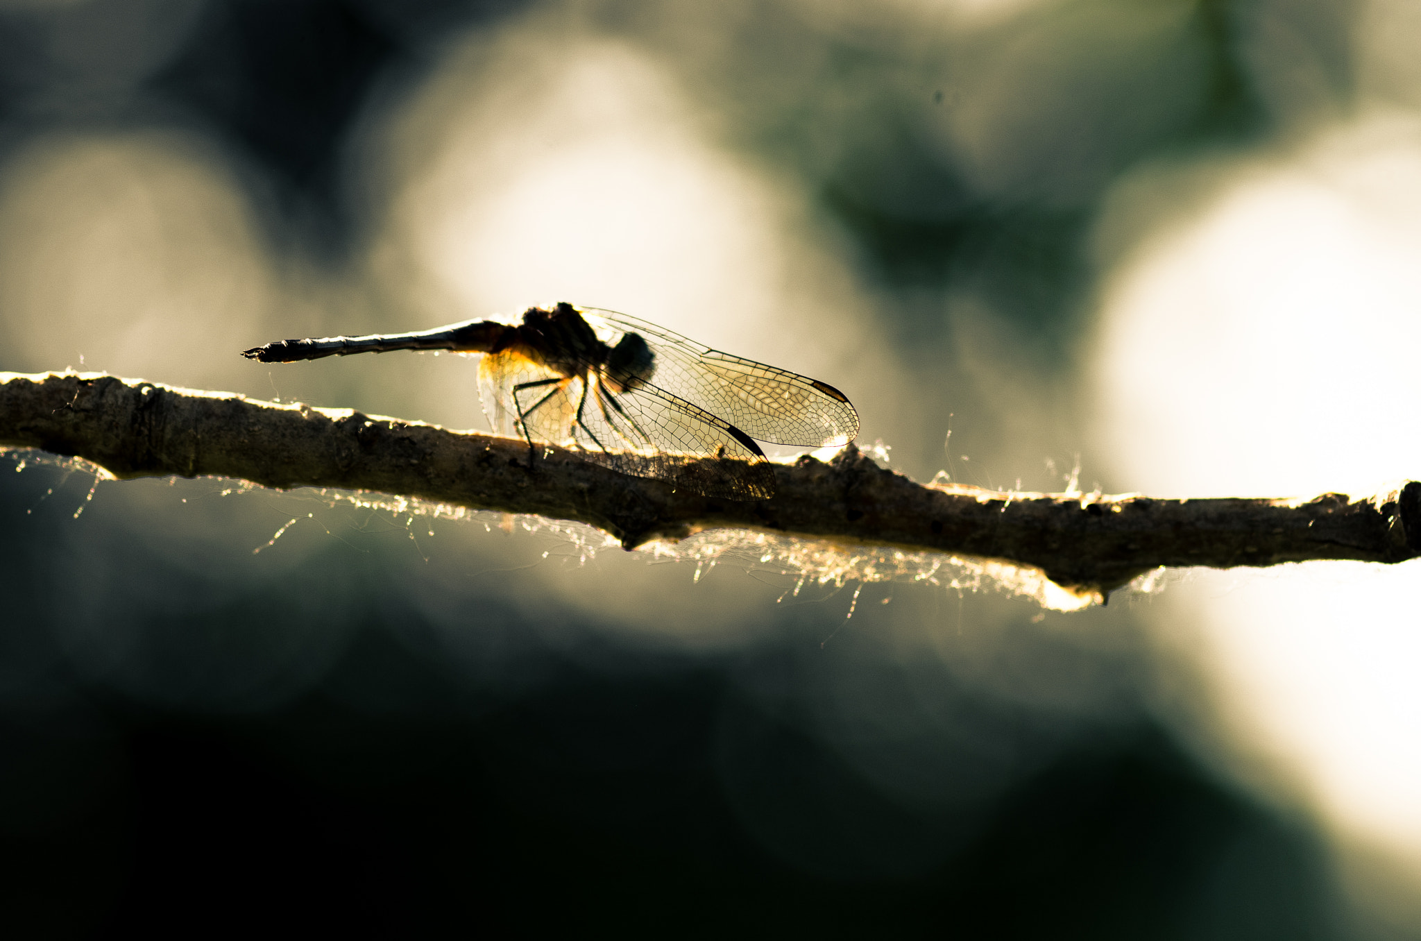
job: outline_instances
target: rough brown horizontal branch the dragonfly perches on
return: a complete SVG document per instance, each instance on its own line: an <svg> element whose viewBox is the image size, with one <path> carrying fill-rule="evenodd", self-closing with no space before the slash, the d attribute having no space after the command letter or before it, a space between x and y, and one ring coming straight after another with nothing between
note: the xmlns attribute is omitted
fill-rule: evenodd
<svg viewBox="0 0 1421 941"><path fill-rule="evenodd" d="M1108 591L1160 566L1397 563L1421 554L1421 482L1351 499L1152 499L924 486L850 445L776 465L770 500L675 492L519 439L180 389L104 374L0 372L0 445L78 456L119 479L240 478L269 488L379 490L603 529L628 549L715 527L897 546L1040 569ZM695 473L698 461L688 459Z"/></svg>

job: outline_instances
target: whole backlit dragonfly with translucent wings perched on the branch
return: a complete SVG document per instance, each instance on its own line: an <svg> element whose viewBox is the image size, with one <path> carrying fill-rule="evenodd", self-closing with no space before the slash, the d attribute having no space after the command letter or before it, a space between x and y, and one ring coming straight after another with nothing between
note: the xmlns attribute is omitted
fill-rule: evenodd
<svg viewBox="0 0 1421 941"><path fill-rule="evenodd" d="M522 323L468 320L422 333L280 340L257 362L354 353L483 354L479 395L496 432L576 449L591 463L732 500L774 496L756 439L847 445L858 412L833 385L702 345L611 310L530 307ZM705 461L703 458L718 458Z"/></svg>

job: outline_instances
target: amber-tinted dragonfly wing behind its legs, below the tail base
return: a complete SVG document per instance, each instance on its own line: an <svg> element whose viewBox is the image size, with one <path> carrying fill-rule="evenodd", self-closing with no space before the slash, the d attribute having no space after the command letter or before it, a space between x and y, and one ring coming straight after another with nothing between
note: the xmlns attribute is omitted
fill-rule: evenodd
<svg viewBox="0 0 1421 941"><path fill-rule="evenodd" d="M483 414L500 435L523 436L522 412L533 441L571 443L581 388L580 378L566 378L512 350L485 354L479 362Z"/></svg>

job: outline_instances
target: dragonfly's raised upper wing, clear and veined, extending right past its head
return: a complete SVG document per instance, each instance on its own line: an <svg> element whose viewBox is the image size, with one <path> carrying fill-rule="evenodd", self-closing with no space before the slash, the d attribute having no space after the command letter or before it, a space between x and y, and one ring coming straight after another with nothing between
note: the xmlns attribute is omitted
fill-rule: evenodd
<svg viewBox="0 0 1421 941"><path fill-rule="evenodd" d="M712 350L637 317L578 310L607 334L641 334L657 355L652 381L658 387L719 415L750 438L824 448L858 436L858 412L827 382Z"/></svg>

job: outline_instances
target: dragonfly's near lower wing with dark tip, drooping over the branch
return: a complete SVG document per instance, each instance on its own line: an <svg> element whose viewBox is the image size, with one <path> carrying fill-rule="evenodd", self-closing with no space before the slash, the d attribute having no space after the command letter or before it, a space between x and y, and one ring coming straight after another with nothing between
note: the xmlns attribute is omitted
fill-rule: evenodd
<svg viewBox="0 0 1421 941"><path fill-rule="evenodd" d="M722 499L774 496L774 468L759 446L685 399L654 385L612 392L594 381L580 405L576 438L593 463Z"/></svg>

